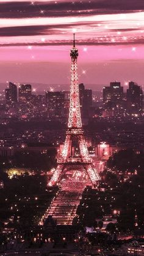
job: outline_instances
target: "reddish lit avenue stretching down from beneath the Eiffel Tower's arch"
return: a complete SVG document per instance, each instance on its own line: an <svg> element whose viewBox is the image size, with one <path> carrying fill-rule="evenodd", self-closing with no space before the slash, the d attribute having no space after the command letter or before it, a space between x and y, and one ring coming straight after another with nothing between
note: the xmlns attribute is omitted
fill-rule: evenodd
<svg viewBox="0 0 144 256"><path fill-rule="evenodd" d="M71 225L86 185L90 185L90 182L84 173L73 171L65 175L60 181L60 191L43 220L51 215L58 225Z"/></svg>

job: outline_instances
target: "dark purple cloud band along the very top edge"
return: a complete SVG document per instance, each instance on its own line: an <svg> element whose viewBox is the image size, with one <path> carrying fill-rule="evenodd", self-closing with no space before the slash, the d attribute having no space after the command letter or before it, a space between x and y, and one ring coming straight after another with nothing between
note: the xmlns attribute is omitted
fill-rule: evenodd
<svg viewBox="0 0 144 256"><path fill-rule="evenodd" d="M3 1L1 18L27 18L38 16L74 16L144 10L143 0L91 0L91 1Z"/></svg>

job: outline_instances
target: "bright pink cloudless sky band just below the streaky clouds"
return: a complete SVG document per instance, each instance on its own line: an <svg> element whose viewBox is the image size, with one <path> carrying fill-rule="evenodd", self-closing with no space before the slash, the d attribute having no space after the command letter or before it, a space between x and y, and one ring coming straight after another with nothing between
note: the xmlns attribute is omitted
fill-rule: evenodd
<svg viewBox="0 0 144 256"><path fill-rule="evenodd" d="M113 46L84 46L78 45L78 62L112 62L113 60L144 59L143 45L113 45ZM134 50L135 49L135 50ZM0 48L1 62L68 62L70 46L9 46Z"/></svg>

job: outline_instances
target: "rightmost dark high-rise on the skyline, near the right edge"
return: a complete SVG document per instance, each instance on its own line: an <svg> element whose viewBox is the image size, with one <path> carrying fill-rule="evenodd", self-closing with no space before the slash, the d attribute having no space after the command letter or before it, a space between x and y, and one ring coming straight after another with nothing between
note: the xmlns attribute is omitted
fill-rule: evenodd
<svg viewBox="0 0 144 256"><path fill-rule="evenodd" d="M126 93L126 101L128 112L131 114L139 114L143 110L143 91L142 87L135 82L129 82L129 89Z"/></svg>

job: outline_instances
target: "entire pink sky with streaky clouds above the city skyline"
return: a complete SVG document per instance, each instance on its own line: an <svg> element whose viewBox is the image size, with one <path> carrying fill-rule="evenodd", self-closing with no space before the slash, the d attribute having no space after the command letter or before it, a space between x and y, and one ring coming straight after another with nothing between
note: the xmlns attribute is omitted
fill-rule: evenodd
<svg viewBox="0 0 144 256"><path fill-rule="evenodd" d="M0 82L69 84L76 33L79 82L144 84L144 1L0 1Z"/></svg>

